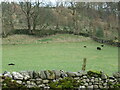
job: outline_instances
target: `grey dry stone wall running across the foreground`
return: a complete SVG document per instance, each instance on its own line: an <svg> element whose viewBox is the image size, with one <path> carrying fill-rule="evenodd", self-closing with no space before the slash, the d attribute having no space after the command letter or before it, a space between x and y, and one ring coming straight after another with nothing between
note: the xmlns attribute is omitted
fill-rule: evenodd
<svg viewBox="0 0 120 90"><path fill-rule="evenodd" d="M81 82L77 89L80 88L120 88L120 73L114 73L108 76L103 72L65 72L63 70L44 70L44 71L21 71L21 72L4 72L1 74L1 83L6 77L16 81L18 84L27 88L37 87L50 89L49 83L59 82L60 80L70 77L77 82ZM4 85L2 85L4 86Z"/></svg>

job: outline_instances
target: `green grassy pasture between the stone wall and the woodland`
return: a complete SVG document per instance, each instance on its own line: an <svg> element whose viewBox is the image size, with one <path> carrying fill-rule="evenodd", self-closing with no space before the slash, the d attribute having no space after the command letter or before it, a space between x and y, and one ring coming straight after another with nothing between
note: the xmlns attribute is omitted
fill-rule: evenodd
<svg viewBox="0 0 120 90"><path fill-rule="evenodd" d="M80 71L83 58L87 58L87 70L112 74L118 69L118 48L105 45L101 51L96 50L100 45L89 38L67 34L36 39L30 44L3 45L2 71Z"/></svg>

